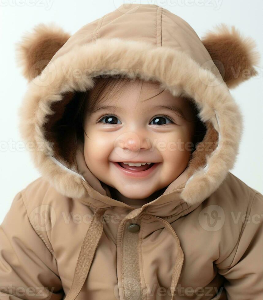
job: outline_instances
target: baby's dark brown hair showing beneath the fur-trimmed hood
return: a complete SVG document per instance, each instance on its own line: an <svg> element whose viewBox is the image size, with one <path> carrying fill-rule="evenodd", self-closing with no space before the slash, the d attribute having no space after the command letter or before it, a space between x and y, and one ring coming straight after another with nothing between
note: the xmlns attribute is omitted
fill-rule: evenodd
<svg viewBox="0 0 263 300"><path fill-rule="evenodd" d="M78 92L76 94L77 97L79 97L79 106L78 110L73 118L73 122L76 125L76 136L75 141L77 143L77 140L81 140L84 143L84 134L88 137L88 135L85 132L84 128L84 122L87 114L91 114L94 111L96 111L97 107L99 106L99 103L106 99L111 100L118 100L119 97L122 95L122 93L125 91L124 87L127 86L131 82L131 78L124 76L124 75L115 75L112 76L97 76L94 78L94 88L86 91L86 92ZM135 78L133 80L134 83L141 84L142 80L140 78ZM158 81L150 81L152 86L156 87L156 90L158 92L154 94L154 96L151 96L150 98L141 100L142 102L147 101L149 99L154 98L155 96L161 94L165 89L163 89L160 92L160 83ZM143 81L143 83L147 84L147 81ZM132 88L132 87L131 87ZM141 85L141 92L142 92L142 85ZM192 136L192 143L193 143L193 150L196 149L196 145L198 142L202 141L205 133L206 133L206 127L203 122L201 122L200 118L198 117L198 109L194 103L194 101L191 98L184 97L186 101L188 101L189 106L191 107L194 115L194 119L186 119L184 116L181 116L182 118L185 118L189 122L195 123L195 133ZM179 115L179 114L178 114Z"/></svg>

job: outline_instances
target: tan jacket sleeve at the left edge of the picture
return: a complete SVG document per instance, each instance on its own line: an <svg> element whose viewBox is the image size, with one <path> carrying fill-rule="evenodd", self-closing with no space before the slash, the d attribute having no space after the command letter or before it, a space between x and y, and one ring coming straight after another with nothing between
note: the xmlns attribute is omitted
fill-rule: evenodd
<svg viewBox="0 0 263 300"><path fill-rule="evenodd" d="M29 221L22 193L0 226L0 299L63 298L56 261Z"/></svg>

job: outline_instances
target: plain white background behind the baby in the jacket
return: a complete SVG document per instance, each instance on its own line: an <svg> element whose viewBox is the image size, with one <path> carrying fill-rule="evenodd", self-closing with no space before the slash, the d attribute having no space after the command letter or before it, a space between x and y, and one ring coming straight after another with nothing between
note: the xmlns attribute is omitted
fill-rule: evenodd
<svg viewBox="0 0 263 300"><path fill-rule="evenodd" d="M263 193L263 1L148 0L130 2L162 6L187 21L200 37L216 24L224 22L228 25L235 25L242 34L255 39L262 56L260 66L257 68L259 76L231 90L242 109L245 127L240 154L231 172L247 185ZM125 1L125 3L130 2ZM55 21L65 31L73 34L83 25L115 10L122 3L117 0L0 0L0 223L9 210L13 197L40 176L33 167L30 153L26 150L19 150L21 137L18 130L17 109L26 91L27 81L22 77L21 69L18 69L16 65L14 44L26 31L30 32L40 22Z"/></svg>

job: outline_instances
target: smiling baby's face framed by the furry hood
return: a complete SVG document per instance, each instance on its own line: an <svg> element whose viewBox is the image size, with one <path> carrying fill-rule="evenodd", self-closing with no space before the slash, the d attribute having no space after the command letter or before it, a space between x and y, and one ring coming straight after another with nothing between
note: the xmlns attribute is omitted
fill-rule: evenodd
<svg viewBox="0 0 263 300"><path fill-rule="evenodd" d="M99 180L125 197L143 199L185 170L195 124L189 119L194 115L186 99L167 90L157 95L162 89L151 82L130 82L124 89L117 100L103 100L99 109L86 113L84 156Z"/></svg>

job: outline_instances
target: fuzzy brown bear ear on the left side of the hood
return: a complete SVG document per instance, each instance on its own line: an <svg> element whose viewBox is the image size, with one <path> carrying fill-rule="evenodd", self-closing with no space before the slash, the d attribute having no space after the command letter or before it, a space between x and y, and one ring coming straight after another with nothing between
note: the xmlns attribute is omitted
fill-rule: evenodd
<svg viewBox="0 0 263 300"><path fill-rule="evenodd" d="M15 43L16 61L22 67L23 76L28 81L38 76L70 36L53 22L40 23L32 32L26 32L21 41Z"/></svg>

